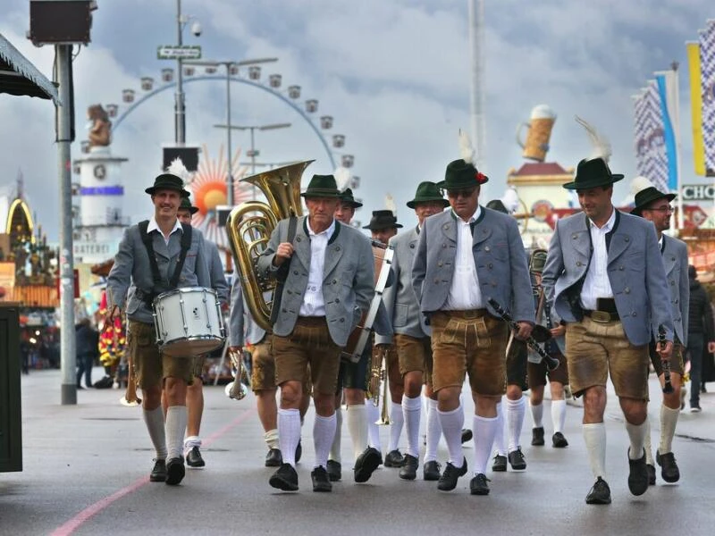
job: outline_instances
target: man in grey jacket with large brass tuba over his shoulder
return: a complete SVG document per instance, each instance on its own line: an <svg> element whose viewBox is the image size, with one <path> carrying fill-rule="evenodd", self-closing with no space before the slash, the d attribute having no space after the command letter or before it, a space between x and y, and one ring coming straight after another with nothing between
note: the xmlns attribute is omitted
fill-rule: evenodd
<svg viewBox="0 0 715 536"><path fill-rule="evenodd" d="M308 215L279 222L258 272L284 272L280 309L273 314L275 380L281 387L278 437L283 463L269 483L298 490L294 453L300 438L299 406L308 365L315 402L314 491L331 491L325 469L335 434L334 393L341 348L374 294L374 261L369 240L335 222L340 190L332 175L314 175L305 197ZM291 221L292 220L292 221ZM289 237L289 234L294 234Z"/></svg>

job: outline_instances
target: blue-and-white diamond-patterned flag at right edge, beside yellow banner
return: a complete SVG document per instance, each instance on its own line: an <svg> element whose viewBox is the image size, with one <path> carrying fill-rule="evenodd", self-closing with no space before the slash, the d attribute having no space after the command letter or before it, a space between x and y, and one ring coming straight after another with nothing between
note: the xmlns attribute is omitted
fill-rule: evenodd
<svg viewBox="0 0 715 536"><path fill-rule="evenodd" d="M705 173L715 176L715 20L700 32L700 88Z"/></svg>

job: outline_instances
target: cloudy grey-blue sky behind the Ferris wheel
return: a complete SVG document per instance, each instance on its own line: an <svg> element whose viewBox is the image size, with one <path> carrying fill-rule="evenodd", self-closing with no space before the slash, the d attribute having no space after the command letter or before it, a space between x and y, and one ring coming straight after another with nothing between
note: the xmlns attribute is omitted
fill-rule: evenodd
<svg viewBox="0 0 715 536"><path fill-rule="evenodd" d="M160 69L175 66L156 59L156 46L176 42L175 0L97 4L92 42L74 60L73 158L81 156L87 135L88 105L122 104L122 88L140 93L139 77L158 79ZM3 6L0 33L51 77L53 47L36 48L25 38L28 1ZM203 27L200 38L187 28L184 42L202 46L204 58L278 57L264 74L282 73L283 88L300 85L301 101L314 97L316 115L334 117L328 134L346 136L345 152L355 155L353 172L361 178L360 220L384 208L386 193L395 198L400 222L415 220L405 203L421 180L442 180L445 165L458 158L458 129L469 128L467 0L183 0L182 6ZM548 159L574 166L590 153L573 121L577 113L610 138L611 169L627 176L616 197L625 197L635 176L631 96L673 60L682 65L683 182L704 181L693 172L685 41L695 40L713 16L711 0L486 0L487 196L500 197L509 168L524 163L517 124L534 105L547 104L558 114ZM225 131L213 127L225 123L225 82L189 83L185 91L187 141L206 144L215 155L225 144ZM319 138L288 105L244 84L232 84L231 94L234 124L293 124L257 133L260 159L315 158L307 178L332 172ZM47 101L0 95L0 186L22 171L50 240L57 239L59 221L54 116ZM122 167L124 214L134 221L151 214L143 191L159 172L161 147L173 138L172 90L148 99L114 131L113 155L130 159ZM247 148L248 135L237 132L233 144Z"/></svg>

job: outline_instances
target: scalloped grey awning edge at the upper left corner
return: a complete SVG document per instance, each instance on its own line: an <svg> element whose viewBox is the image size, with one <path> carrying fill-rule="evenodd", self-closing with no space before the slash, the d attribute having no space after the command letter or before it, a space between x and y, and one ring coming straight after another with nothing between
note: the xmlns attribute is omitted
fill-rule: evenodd
<svg viewBox="0 0 715 536"><path fill-rule="evenodd" d="M58 102L57 88L0 35L0 93L38 96Z"/></svg>

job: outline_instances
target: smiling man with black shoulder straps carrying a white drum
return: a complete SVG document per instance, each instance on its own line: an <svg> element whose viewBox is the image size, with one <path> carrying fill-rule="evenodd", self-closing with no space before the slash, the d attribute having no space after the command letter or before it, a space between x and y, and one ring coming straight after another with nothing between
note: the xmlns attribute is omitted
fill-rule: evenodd
<svg viewBox="0 0 715 536"><path fill-rule="evenodd" d="M163 173L146 189L154 215L124 230L106 287L106 321L114 322L124 311L128 318L129 355L143 392L144 422L156 449L149 480L170 485L179 484L185 472L186 389L193 380L193 359L168 356L157 347L152 302L167 290L211 287L204 236L176 217L181 198L189 197L178 173ZM127 300L130 287L135 291ZM165 423L162 390L168 402Z"/></svg>

